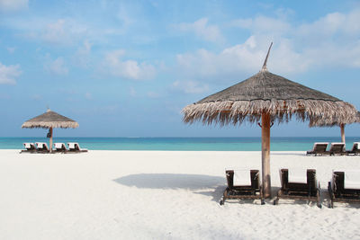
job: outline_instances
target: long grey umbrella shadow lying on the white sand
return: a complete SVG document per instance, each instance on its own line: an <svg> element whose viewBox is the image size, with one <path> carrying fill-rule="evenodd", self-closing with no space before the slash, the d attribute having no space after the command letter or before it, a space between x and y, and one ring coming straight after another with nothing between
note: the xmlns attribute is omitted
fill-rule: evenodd
<svg viewBox="0 0 360 240"><path fill-rule="evenodd" d="M211 196L217 202L226 188L224 177L201 174L139 173L117 178L114 182L137 188L191 190L196 194Z"/></svg>

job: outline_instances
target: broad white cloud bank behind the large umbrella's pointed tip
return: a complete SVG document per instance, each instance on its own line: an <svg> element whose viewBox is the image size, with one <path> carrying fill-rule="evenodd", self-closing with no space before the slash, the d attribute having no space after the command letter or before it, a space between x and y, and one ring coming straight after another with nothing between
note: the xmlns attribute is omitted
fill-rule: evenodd
<svg viewBox="0 0 360 240"><path fill-rule="evenodd" d="M234 79L261 69L271 41L269 71L299 73L320 67L360 67L360 9L329 13L317 21L292 24L284 18L257 16L230 26L249 31L243 43L219 53L198 49L176 56L178 72L190 79Z"/></svg>

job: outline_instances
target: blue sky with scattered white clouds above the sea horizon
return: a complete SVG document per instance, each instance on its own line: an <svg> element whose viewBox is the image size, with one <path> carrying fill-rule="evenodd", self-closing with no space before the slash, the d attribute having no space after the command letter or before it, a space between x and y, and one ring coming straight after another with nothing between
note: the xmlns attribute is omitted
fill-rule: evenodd
<svg viewBox="0 0 360 240"><path fill-rule="evenodd" d="M0 137L47 107L76 137L257 137L185 125L185 105L269 71L360 108L358 1L0 0ZM272 136L339 136L293 120ZM347 126L360 136L360 125Z"/></svg>

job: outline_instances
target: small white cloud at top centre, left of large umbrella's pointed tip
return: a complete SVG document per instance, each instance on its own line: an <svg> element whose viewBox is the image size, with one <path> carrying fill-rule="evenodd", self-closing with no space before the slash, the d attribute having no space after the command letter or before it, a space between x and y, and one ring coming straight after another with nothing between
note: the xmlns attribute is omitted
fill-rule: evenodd
<svg viewBox="0 0 360 240"><path fill-rule="evenodd" d="M223 37L217 25L208 24L207 18L199 19L193 23L179 23L175 25L179 31L192 31L197 37L209 41L222 41Z"/></svg>

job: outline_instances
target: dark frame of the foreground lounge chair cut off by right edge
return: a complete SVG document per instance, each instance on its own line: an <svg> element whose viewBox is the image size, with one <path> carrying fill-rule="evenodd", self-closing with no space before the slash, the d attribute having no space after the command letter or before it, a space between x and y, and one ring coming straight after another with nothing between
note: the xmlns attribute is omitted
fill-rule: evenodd
<svg viewBox="0 0 360 240"><path fill-rule="evenodd" d="M360 202L360 189L346 189L344 187L345 172L337 171L332 175L332 181L334 182L334 187L332 187L331 182L328 184L328 191L330 195L329 208L334 208L334 202Z"/></svg>

